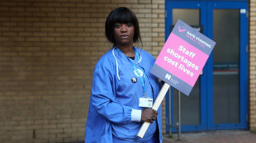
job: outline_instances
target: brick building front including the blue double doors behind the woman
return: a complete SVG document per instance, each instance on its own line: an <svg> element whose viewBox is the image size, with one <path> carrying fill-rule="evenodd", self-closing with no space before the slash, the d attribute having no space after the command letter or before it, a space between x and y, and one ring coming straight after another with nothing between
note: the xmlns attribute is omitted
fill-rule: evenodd
<svg viewBox="0 0 256 143"><path fill-rule="evenodd" d="M217 43L220 39L215 35L216 32L213 32L212 27L215 25L211 23L214 23L214 18L218 17L211 14L209 16L206 13L216 12L224 16L222 21L225 19L234 21L220 24L230 28L239 27L238 30L234 29L237 33L232 33L232 35L240 35L235 37L238 41L233 39L231 43L236 45L238 50L244 49L245 52L237 51L231 55L220 56L225 58L233 55L232 58L239 62L215 61L212 55L211 62L207 63L207 68L200 77L201 81L197 84L199 88L196 87L197 90L192 91L195 95L190 95L189 99L183 97L183 103L197 105L197 108L193 108L197 111L187 110L189 106L182 106L182 131L237 128L256 130L256 0L221 2L210 0L2 0L0 2L1 141L83 141L86 121L89 118L87 116L92 72L97 60L111 48L111 44L107 42L104 35L104 25L108 13L116 7L129 7L135 12L140 22L142 48L155 58L164 46L171 25L174 25L177 19L183 18L190 25L201 26L202 32L211 39L218 40ZM229 2L243 2L243 4L235 3L237 7L232 7L234 3ZM191 9L192 12L187 11ZM230 11L225 13L223 12L225 9ZM190 15L187 18L187 15L184 17L178 15L183 12L197 16L197 21L190 21ZM233 18L229 19L230 16ZM210 20L209 17L212 19ZM241 24L243 24L242 28ZM222 29L217 30L220 32ZM245 45L245 48L243 46L241 48L240 44ZM141 45L138 44L138 46ZM216 49L221 48L221 46L216 47ZM217 55L218 50L216 52ZM223 49L223 53L228 52L225 48ZM215 118L222 117L222 114L218 112L215 114L214 111L225 110L225 107L217 108L221 102L216 104L211 102L216 97L214 92L219 91L214 90L214 73L220 76L217 77L220 80L224 79L221 74L225 77L230 76L226 80L230 82L225 85L231 86L224 86L224 89L231 88L227 92L232 91L232 94L225 95L234 93L237 95L236 99L230 96L226 99L219 97L220 101L230 104L227 107L230 110L223 112L224 117L229 114L226 116L227 120ZM238 80L232 81L235 78ZM233 83L236 82L238 84L235 86ZM221 81L217 82L217 85L221 83ZM171 90L171 93L171 110L168 106L168 96L162 104L164 132L170 131L169 125L176 125L177 122L176 91ZM219 95L218 93L216 94ZM212 106L206 105L208 103L204 100ZM193 101L193 104L189 104L190 101ZM233 111L232 108L236 110ZM168 115L172 115L170 123ZM195 118L186 120L186 115ZM176 131L175 127L172 131Z"/></svg>

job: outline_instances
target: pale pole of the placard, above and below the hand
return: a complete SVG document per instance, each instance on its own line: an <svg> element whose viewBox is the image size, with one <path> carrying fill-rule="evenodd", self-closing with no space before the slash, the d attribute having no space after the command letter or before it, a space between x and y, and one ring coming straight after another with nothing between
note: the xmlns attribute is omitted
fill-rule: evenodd
<svg viewBox="0 0 256 143"><path fill-rule="evenodd" d="M169 87L170 87L170 85L168 85L168 83L164 83L162 89L159 92L158 97L154 101L154 105L153 105L152 109L154 109L156 111L159 109L159 106L162 103L162 101L164 99L164 96L166 95ZM143 136L145 135L145 132L147 131L149 125L150 125L149 122L144 122L142 124L142 126L140 127L140 131L138 132L137 136L139 136L140 138L143 138Z"/></svg>

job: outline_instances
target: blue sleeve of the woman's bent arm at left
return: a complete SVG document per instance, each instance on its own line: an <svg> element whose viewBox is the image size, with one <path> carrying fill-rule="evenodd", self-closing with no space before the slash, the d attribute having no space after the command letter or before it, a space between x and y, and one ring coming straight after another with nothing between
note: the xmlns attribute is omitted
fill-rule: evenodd
<svg viewBox="0 0 256 143"><path fill-rule="evenodd" d="M92 80L92 104L97 113L107 118L110 122L125 124L131 121L129 106L121 105L116 100L116 85L111 71L97 68L93 73Z"/></svg>

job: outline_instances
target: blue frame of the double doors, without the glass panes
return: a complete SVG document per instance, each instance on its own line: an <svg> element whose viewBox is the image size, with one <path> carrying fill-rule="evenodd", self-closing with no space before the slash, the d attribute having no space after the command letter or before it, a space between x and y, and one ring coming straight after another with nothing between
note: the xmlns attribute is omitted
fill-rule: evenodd
<svg viewBox="0 0 256 143"><path fill-rule="evenodd" d="M200 9L200 25L203 25L203 34L213 39L213 10L214 9L240 9L240 122L228 124L214 124L213 123L213 55L211 53L205 67L203 74L200 76L201 84L201 124L192 126L183 126L182 131L207 131L207 130L226 130L226 129L248 129L248 2L225 1L225 2L210 2L210 1L186 1L186 0L165 0L165 39L168 39L170 34L170 25L173 24L173 8L187 8ZM245 12L244 12L245 10ZM211 73L211 74L210 74ZM199 79L198 79L199 80ZM172 93L172 90L170 90ZM169 97L166 96L166 131L169 132ZM173 94L171 94L171 101L173 103ZM173 117L173 104L171 104L171 114ZM171 118L171 125L173 125L173 118ZM181 122L182 123L182 122ZM177 132L176 127L172 127L172 132Z"/></svg>

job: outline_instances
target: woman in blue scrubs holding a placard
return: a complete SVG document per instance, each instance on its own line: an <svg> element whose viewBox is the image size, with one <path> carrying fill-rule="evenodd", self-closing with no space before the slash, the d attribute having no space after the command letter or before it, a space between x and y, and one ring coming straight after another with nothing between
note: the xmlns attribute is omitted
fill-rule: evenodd
<svg viewBox="0 0 256 143"><path fill-rule="evenodd" d="M159 81L149 73L155 59L133 45L141 41L135 14L126 7L114 9L105 30L114 46L93 73L85 142L162 142L161 108L150 108L159 94ZM139 138L143 122L151 124Z"/></svg>

